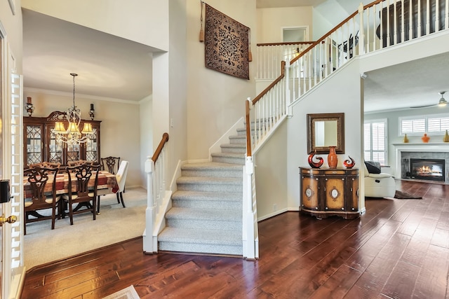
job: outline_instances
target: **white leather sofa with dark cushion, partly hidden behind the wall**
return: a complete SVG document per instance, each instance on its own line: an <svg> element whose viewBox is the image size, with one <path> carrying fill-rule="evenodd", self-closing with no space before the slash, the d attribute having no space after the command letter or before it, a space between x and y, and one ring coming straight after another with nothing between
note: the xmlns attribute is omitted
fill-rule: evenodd
<svg viewBox="0 0 449 299"><path fill-rule="evenodd" d="M371 172L368 171L366 163L370 166ZM394 177L391 174L380 172L380 163L372 161L366 161L366 163L363 163L365 166L365 197L394 197L394 193L396 193Z"/></svg>

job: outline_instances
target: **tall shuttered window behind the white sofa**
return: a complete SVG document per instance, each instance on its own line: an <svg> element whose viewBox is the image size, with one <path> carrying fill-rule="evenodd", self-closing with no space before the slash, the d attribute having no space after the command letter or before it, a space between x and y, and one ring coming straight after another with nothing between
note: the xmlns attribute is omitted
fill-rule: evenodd
<svg viewBox="0 0 449 299"><path fill-rule="evenodd" d="M363 155L367 161L387 162L387 120L367 120L364 125Z"/></svg>

